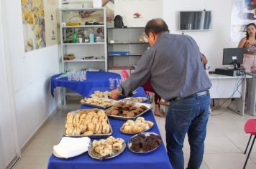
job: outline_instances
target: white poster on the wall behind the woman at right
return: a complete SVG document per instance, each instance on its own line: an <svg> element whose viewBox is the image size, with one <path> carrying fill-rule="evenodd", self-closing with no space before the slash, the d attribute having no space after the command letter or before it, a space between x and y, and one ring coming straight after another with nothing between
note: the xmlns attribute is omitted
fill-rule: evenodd
<svg viewBox="0 0 256 169"><path fill-rule="evenodd" d="M246 35L246 26L256 20L256 0L234 0L231 14L231 40L239 42Z"/></svg>

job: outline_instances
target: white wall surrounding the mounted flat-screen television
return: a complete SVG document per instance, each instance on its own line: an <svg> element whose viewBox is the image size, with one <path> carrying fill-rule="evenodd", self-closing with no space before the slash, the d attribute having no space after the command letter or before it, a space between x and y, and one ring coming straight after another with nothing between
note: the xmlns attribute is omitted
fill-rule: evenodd
<svg viewBox="0 0 256 169"><path fill-rule="evenodd" d="M231 42L230 24L232 0L164 0L163 19L167 22L170 33L181 34L178 31L179 11L212 11L213 30L207 32L185 32L193 37L201 52L209 60L211 70L222 67L222 52L226 47L237 47L238 42Z"/></svg>

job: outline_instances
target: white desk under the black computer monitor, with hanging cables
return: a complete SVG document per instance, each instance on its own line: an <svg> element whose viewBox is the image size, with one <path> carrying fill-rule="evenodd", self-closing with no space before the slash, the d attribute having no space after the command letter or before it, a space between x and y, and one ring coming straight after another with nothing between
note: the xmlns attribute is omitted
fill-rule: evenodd
<svg viewBox="0 0 256 169"><path fill-rule="evenodd" d="M237 112L239 115L244 115L244 102L246 80L251 77L231 77L221 74L209 74L211 79L210 95L211 99L220 98L237 98L234 100L235 104L229 105L229 109ZM240 85L239 85L240 84Z"/></svg>

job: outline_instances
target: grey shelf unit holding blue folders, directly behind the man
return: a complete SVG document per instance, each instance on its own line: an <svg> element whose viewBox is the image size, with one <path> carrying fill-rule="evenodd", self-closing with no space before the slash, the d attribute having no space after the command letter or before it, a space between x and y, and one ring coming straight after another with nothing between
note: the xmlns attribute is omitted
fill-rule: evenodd
<svg viewBox="0 0 256 169"><path fill-rule="evenodd" d="M150 45L142 38L144 27L108 28L109 71L134 69Z"/></svg>

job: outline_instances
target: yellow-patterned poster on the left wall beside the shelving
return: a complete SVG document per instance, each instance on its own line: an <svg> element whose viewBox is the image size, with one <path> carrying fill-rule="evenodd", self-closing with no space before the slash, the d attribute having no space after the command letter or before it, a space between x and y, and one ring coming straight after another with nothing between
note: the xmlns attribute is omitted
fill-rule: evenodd
<svg viewBox="0 0 256 169"><path fill-rule="evenodd" d="M21 1L25 52L57 44L58 0Z"/></svg>

